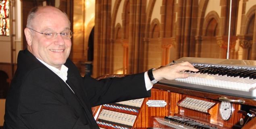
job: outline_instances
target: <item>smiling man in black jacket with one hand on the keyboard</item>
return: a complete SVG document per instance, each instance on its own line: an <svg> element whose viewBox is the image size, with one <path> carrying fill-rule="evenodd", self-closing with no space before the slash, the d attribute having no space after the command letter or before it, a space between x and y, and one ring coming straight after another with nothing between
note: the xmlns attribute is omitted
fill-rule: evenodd
<svg viewBox="0 0 256 129"><path fill-rule="evenodd" d="M150 96L150 79L187 77L188 62L123 78L81 77L68 58L67 15L51 6L31 10L24 30L27 49L19 52L17 71L6 99L4 129L98 129L91 107Z"/></svg>

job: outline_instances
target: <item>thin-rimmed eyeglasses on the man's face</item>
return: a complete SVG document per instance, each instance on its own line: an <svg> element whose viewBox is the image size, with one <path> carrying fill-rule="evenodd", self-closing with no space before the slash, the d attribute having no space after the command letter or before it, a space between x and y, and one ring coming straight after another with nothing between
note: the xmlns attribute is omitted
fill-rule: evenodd
<svg viewBox="0 0 256 129"><path fill-rule="evenodd" d="M33 30L31 28L29 28L30 30ZM52 39L52 38L56 38L57 37L57 34L60 34L60 36L62 38L65 38L65 39L69 39L73 36L74 32L72 32L71 30L65 30L63 32L60 32L60 33L56 33L56 32L48 32L48 33L42 33L42 32L38 32L36 30L33 30L37 33L40 33L40 34L44 34L45 38L48 38L48 39Z"/></svg>

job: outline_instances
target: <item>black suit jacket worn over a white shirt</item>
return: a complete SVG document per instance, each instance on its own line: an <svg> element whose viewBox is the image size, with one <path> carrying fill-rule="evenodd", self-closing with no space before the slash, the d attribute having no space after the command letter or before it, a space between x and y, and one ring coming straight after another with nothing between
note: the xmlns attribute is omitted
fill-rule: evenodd
<svg viewBox="0 0 256 129"><path fill-rule="evenodd" d="M27 49L19 52L17 71L6 98L4 129L98 128L91 107L149 97L144 73L123 78L81 77L67 59L67 84Z"/></svg>

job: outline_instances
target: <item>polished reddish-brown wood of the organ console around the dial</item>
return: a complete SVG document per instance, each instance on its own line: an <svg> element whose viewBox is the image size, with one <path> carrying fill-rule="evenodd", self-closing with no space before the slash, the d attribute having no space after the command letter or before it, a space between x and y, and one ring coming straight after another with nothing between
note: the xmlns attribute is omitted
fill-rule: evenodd
<svg viewBox="0 0 256 129"><path fill-rule="evenodd" d="M112 75L114 77L123 77L125 75ZM112 77L110 75L102 76L98 79ZM245 101L244 104L240 103L231 103L233 110L231 117L224 121L219 113L219 107L221 101L219 101L220 97L227 97L228 99L242 99ZM190 97L194 99L199 99L203 101L208 101L215 103L207 113L187 109L184 107L179 107L177 103L184 99L185 97ZM146 102L149 100L162 100L167 103L164 107L149 107ZM192 119L196 119L198 121L204 121L205 123L209 123L210 125L217 125L227 129L233 128L241 128L244 126L243 129L254 129L256 127L256 119L252 119L251 121L247 121L248 116L246 115L246 111L242 111L242 107L249 108L256 108L256 100L255 99L248 99L242 97L234 97L228 95L221 95L216 93L208 93L202 91L196 91L191 89L183 89L179 87L174 87L170 85L162 85L162 84L155 84L151 90L151 97L145 98L142 104L139 113L137 114L137 119L134 123L133 128L136 129L146 129L148 127L159 127L154 117L164 117L169 115L178 115L178 116L185 116ZM97 109L97 107L96 107ZM245 113L246 112L246 113ZM96 111L94 111L96 113ZM241 119L244 120L241 125Z"/></svg>

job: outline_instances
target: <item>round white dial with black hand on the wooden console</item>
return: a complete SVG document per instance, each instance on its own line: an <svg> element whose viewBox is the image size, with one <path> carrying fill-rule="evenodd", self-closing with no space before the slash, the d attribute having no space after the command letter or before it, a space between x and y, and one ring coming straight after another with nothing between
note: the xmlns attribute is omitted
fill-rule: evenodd
<svg viewBox="0 0 256 129"><path fill-rule="evenodd" d="M219 109L221 118L227 121L232 114L232 105L230 102L222 101Z"/></svg>

